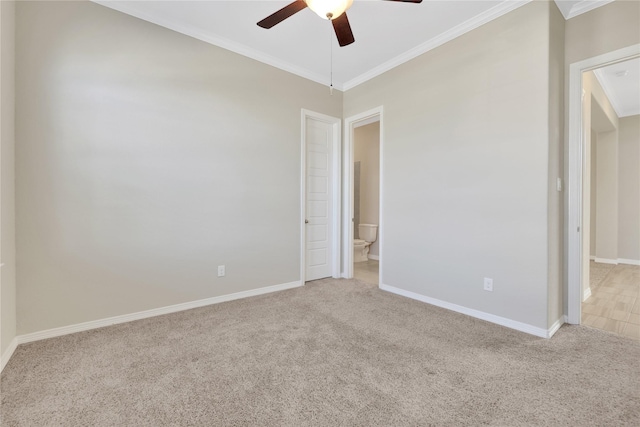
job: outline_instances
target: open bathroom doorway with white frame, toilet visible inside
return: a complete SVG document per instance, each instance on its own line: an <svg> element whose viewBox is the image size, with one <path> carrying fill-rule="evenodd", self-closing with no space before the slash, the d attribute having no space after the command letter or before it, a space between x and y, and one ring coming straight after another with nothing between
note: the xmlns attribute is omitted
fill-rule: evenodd
<svg viewBox="0 0 640 427"><path fill-rule="evenodd" d="M383 109L345 119L343 277L383 284ZM357 243L357 244L356 244Z"/></svg>

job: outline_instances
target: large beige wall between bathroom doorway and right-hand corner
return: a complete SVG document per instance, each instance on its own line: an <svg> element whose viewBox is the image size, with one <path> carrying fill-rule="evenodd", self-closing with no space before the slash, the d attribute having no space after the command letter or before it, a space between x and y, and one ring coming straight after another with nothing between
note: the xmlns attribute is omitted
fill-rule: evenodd
<svg viewBox="0 0 640 427"><path fill-rule="evenodd" d="M345 93L345 116L384 105L383 284L548 327L550 6Z"/></svg>

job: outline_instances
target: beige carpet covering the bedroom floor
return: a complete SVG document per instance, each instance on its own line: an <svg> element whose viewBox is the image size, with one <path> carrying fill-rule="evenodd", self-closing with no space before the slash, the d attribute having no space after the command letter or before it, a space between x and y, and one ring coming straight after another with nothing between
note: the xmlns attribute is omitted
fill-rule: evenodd
<svg viewBox="0 0 640 427"><path fill-rule="evenodd" d="M551 340L357 281L22 345L2 426L640 425L640 346Z"/></svg>

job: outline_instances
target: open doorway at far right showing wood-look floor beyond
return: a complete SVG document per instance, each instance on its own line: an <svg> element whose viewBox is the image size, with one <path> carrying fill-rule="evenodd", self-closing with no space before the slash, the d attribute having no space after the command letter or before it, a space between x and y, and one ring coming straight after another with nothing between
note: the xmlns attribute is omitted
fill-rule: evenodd
<svg viewBox="0 0 640 427"><path fill-rule="evenodd" d="M640 58L583 73L581 323L640 340Z"/></svg>

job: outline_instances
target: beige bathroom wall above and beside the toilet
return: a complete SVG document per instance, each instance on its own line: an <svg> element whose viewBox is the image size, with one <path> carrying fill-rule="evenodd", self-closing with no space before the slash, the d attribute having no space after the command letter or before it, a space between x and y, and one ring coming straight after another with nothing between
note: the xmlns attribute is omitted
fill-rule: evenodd
<svg viewBox="0 0 640 427"><path fill-rule="evenodd" d="M380 226L380 122L354 130L353 157L360 162L360 223ZM380 236L380 229L378 229ZM376 240L369 254L378 256Z"/></svg>

